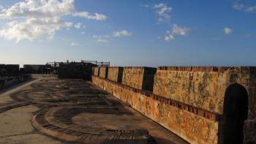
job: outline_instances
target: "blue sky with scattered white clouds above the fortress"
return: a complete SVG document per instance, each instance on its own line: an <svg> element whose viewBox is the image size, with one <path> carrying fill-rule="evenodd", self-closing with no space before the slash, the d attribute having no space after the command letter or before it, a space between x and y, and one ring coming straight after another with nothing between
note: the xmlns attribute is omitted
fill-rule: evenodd
<svg viewBox="0 0 256 144"><path fill-rule="evenodd" d="M0 0L0 64L256 66L256 0Z"/></svg>

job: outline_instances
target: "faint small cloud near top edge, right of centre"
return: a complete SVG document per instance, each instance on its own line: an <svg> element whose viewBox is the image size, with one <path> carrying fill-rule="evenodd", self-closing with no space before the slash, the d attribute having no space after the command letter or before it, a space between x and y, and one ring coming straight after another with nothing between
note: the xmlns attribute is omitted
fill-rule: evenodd
<svg viewBox="0 0 256 144"><path fill-rule="evenodd" d="M159 22L169 22L170 21L170 12L173 10L172 7L168 7L167 4L155 4L153 7L157 10L157 15L159 15Z"/></svg>

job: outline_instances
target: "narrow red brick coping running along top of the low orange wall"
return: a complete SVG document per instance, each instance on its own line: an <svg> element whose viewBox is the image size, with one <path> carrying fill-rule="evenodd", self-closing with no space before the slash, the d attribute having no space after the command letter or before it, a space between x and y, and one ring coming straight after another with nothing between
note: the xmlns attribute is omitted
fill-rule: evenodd
<svg viewBox="0 0 256 144"><path fill-rule="evenodd" d="M201 116L203 118L207 118L211 121L220 121L221 119L221 114L219 113L214 113L214 112L211 112L209 110L203 110L202 108L199 108L199 107L195 107L195 106L192 106L192 105L187 105L183 102L178 102L176 100L173 100L173 99L169 99L169 98L166 98L164 96L159 96L157 94L153 94L151 91L145 91L145 90L140 90L138 88L132 88L130 86L126 86L122 83L116 83L112 80L108 80L108 79L105 79L105 78L102 78L102 77L98 77L98 76L93 76L93 77L97 77L101 80L105 80L105 81L108 81L110 83L114 83L118 86L121 86L122 88L125 88L125 89L129 89L130 91L134 91L135 93L139 93L139 94L142 94L144 96L147 96L147 97L150 97L151 99L155 99L159 102L164 102L165 104L167 105L171 105L173 107L177 107L181 110L186 110L188 111L189 113L194 113L195 115L198 115L198 116Z"/></svg>

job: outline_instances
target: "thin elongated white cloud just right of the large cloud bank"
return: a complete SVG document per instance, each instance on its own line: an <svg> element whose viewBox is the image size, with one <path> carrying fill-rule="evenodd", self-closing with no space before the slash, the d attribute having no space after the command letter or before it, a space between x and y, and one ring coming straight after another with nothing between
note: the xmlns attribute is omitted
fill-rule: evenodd
<svg viewBox="0 0 256 144"><path fill-rule="evenodd" d="M89 20L107 20L107 16L99 13L94 13L91 15L89 12L75 12L74 17L87 18Z"/></svg>

